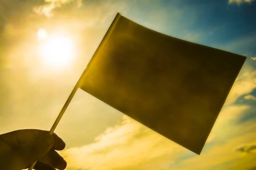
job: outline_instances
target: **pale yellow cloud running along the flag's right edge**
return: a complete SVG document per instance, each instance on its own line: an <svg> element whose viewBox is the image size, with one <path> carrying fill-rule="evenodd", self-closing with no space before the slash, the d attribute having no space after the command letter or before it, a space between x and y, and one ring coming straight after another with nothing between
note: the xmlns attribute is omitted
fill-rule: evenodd
<svg viewBox="0 0 256 170"><path fill-rule="evenodd" d="M250 94L255 88L256 71L253 68L242 68L209 134L212 141L223 140L222 136L228 138L238 135L232 133L234 127L236 127L236 122L250 111L251 107L245 104L236 105L236 101L241 96Z"/></svg>

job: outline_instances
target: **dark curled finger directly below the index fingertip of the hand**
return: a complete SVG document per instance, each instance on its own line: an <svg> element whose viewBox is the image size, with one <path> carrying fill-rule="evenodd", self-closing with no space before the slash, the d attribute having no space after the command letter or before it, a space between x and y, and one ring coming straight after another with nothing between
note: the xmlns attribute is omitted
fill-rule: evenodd
<svg viewBox="0 0 256 170"><path fill-rule="evenodd" d="M39 161L59 170L64 170L67 167L67 162L55 150L50 150L43 158L39 159Z"/></svg>

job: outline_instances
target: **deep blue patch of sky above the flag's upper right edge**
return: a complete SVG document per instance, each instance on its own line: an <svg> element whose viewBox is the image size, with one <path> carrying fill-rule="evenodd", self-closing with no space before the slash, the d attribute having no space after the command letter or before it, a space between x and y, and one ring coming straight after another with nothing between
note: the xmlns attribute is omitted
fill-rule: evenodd
<svg viewBox="0 0 256 170"><path fill-rule="evenodd" d="M171 1L163 2L163 7L171 5L170 3ZM255 2L238 5L229 4L227 0L182 0L177 8L184 12L180 23L184 22L185 25L187 20L193 20L185 28L189 32L201 34L197 42L218 46L247 37L251 37L253 41L253 37L256 37ZM240 49L231 47L230 50L239 54L249 53L249 57L254 56L255 44L248 43Z"/></svg>

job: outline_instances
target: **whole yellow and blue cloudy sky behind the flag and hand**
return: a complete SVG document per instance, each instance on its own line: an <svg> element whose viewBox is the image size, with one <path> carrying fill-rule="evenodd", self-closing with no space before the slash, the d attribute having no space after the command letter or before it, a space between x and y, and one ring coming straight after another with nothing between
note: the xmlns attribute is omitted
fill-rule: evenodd
<svg viewBox="0 0 256 170"><path fill-rule="evenodd" d="M200 156L78 90L55 130L67 170L256 170L255 9L256 0L0 0L0 133L50 129L120 12L247 60ZM40 28L72 41L67 63L40 56Z"/></svg>

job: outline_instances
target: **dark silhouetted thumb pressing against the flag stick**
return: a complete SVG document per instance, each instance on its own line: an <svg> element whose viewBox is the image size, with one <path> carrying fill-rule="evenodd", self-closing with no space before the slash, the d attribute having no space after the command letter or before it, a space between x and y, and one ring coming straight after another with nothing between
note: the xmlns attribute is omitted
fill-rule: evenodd
<svg viewBox="0 0 256 170"><path fill-rule="evenodd" d="M27 167L35 161L45 156L54 144L54 139L49 134L43 134L41 137L26 146L17 150L17 163L20 167Z"/></svg>

